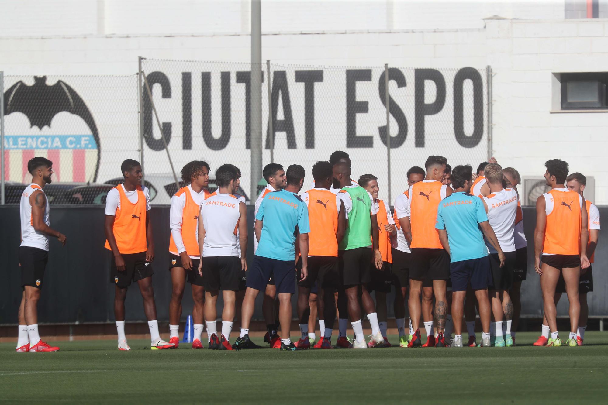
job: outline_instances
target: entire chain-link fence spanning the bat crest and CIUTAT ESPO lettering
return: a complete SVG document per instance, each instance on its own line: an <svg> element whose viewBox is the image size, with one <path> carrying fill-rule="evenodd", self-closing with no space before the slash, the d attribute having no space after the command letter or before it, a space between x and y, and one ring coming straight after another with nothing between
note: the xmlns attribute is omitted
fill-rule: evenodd
<svg viewBox="0 0 608 405"><path fill-rule="evenodd" d="M174 174L179 180L183 165L195 159L210 164L210 187L219 165L237 165L241 192L255 200L250 64L142 58L141 68L139 89L137 75L5 77L7 203L18 202L33 156L54 162L53 187L61 187L62 196L55 203L103 202L108 185L100 184L120 182L120 162L127 157L142 159L153 204L170 203ZM407 170L424 167L431 154L446 156L452 166L476 167L488 158L486 69L267 63L260 70L263 165L302 165L306 189L314 162L335 150L350 154L353 179L377 176L380 196L390 202L406 189Z"/></svg>

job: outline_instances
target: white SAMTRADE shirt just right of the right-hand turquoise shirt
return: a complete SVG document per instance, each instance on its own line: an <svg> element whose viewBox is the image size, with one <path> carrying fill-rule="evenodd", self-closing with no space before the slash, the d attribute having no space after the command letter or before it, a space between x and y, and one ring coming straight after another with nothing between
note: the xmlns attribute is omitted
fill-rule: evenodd
<svg viewBox="0 0 608 405"><path fill-rule="evenodd" d="M517 215L517 192L513 189L502 189L483 197L488 206L488 221L503 252L515 251L515 216ZM496 249L484 237L490 253Z"/></svg>

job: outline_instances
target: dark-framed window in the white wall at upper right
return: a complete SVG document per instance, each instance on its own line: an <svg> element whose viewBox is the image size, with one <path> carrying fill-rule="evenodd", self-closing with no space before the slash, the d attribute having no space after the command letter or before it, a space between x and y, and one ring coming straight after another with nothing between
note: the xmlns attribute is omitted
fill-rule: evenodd
<svg viewBox="0 0 608 405"><path fill-rule="evenodd" d="M608 73L562 73L560 82L562 109L608 109Z"/></svg>

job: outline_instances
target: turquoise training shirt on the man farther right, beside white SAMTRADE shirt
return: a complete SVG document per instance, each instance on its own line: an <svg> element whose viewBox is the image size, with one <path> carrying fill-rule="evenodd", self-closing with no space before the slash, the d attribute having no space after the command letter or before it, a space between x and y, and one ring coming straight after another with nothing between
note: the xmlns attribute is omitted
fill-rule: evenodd
<svg viewBox="0 0 608 405"><path fill-rule="evenodd" d="M479 228L479 224L485 221L488 221L488 215L479 197L457 192L441 200L435 229L447 230L452 263L488 255Z"/></svg>

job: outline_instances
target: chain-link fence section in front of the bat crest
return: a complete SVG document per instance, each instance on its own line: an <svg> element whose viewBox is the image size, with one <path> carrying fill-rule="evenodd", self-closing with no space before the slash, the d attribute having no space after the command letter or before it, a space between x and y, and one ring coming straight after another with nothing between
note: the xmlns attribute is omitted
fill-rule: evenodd
<svg viewBox="0 0 608 405"><path fill-rule="evenodd" d="M103 204L139 159L137 75L4 76L4 195L18 204L34 156L53 162L50 204Z"/></svg>

